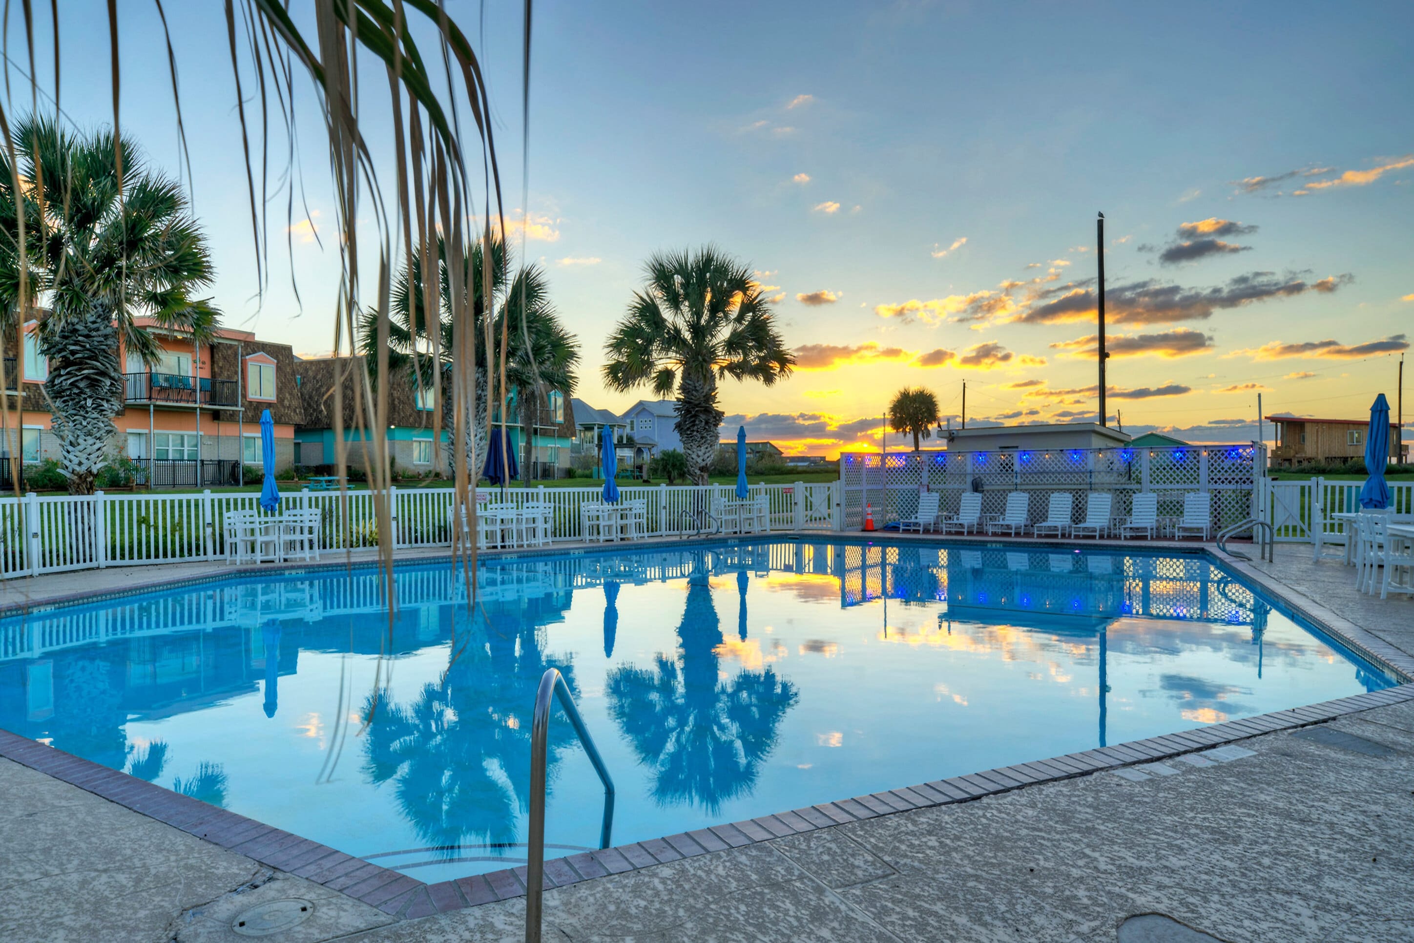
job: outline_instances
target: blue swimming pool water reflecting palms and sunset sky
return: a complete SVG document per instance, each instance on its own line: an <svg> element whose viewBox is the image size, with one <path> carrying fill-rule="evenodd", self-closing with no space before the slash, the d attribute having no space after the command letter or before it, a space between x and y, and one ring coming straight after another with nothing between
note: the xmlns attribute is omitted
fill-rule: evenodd
<svg viewBox="0 0 1414 943"><path fill-rule="evenodd" d="M0 621L0 727L440 881L525 860L564 674L639 841L1394 683L1198 554L764 540L216 580ZM550 854L602 792L550 728Z"/></svg>

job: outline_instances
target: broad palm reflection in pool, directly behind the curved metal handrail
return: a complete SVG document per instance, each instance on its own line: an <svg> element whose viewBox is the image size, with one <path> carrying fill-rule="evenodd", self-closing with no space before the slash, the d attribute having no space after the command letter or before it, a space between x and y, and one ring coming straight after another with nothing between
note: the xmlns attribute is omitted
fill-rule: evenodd
<svg viewBox="0 0 1414 943"><path fill-rule="evenodd" d="M578 697L574 669L544 655L544 639L519 611L468 615L454 607L452 618L455 655L441 681L406 704L379 696L363 773L375 785L393 782L403 816L443 855L465 857L458 853L467 845L501 855L519 841L518 819L530 803L530 710L540 676L559 669ZM365 715L372 704L369 697ZM551 783L561 754L575 745L568 724L550 724Z"/></svg>

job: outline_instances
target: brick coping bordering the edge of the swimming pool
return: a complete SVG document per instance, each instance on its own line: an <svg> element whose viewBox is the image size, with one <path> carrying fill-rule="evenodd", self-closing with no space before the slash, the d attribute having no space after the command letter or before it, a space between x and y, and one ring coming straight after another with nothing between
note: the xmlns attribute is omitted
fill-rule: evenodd
<svg viewBox="0 0 1414 943"><path fill-rule="evenodd" d="M831 536L844 534L831 533ZM706 541L694 541L691 546L701 546L701 543ZM1036 546L1036 543L1039 541L1028 541L1029 546ZM1145 546L1154 547L1155 544L1148 543ZM614 547L611 546L609 549ZM1176 547L1164 547L1164 550L1174 549ZM1114 746L1102 746L1077 754L1052 756L1049 759L966 773L950 779L793 809L772 816L697 828L614 848L581 851L566 858L546 861L543 886L546 889L567 886L608 874L622 874L711 851L772 841L792 834L830 828L864 819L970 802L1024 786L1158 762L1263 734L1295 730L1348 714L1414 701L1414 683L1408 683L1414 680L1414 659L1314 601L1292 599L1288 595L1291 587L1268 577L1256 567L1246 566L1240 560L1222 558L1209 547L1189 544L1188 549L1191 553L1196 551L1202 556L1209 556L1225 567L1239 571L1244 578L1260 584L1266 592L1277 597L1282 605L1294 609L1338 643L1391 672L1404 683L1381 691L1271 711L1257 717L1225 721L1179 734L1148 737ZM550 550L549 553L563 553L563 550ZM533 557L540 556L540 553L509 551L495 556ZM298 567L297 570L332 570L346 566L348 563L314 564L312 567ZM230 575L239 577L269 570L264 567L250 568ZM161 582L160 585L181 585L208 580L209 575L177 582ZM96 601L107 597L130 595L133 591L133 588L129 588L120 592L75 594L64 599L48 599L42 604L21 608L35 612L51 605L59 605L61 602ZM11 609L14 608L11 607ZM13 612L3 612L3 615L8 614ZM191 799L189 796L4 730L0 730L0 758L14 761L78 786L191 836L205 838L222 848L246 855L266 867L277 868L314 881L331 891L346 894L400 919L416 919L447 910L460 910L493 901L522 896L526 892L525 865L472 875L469 878L424 884L400 871L369 864L362 858L337 851L294 833L206 804L198 799Z"/></svg>

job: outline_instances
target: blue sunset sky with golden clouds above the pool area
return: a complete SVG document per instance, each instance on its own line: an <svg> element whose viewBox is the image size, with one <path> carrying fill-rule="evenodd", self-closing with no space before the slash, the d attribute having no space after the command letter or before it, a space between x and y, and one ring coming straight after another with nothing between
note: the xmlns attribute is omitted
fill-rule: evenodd
<svg viewBox="0 0 1414 943"><path fill-rule="evenodd" d="M106 4L59 6L59 105L110 123ZM178 175L161 24L120 7L123 130ZM223 322L328 353L339 264L310 86L293 208L271 133L262 286L222 4L167 7ZM724 438L744 423L793 452L877 448L898 389L930 389L956 424L964 380L970 426L1093 420L1099 212L1126 431L1249 441L1258 393L1268 416L1396 403L1414 336L1414 6L542 0L527 154L519 4L448 10L486 66L523 257L580 339L575 394L600 409L652 396L600 373L645 259L713 243L768 286L797 358L772 387L723 383ZM30 105L17 11L8 40L13 113ZM386 79L365 78L390 181Z"/></svg>

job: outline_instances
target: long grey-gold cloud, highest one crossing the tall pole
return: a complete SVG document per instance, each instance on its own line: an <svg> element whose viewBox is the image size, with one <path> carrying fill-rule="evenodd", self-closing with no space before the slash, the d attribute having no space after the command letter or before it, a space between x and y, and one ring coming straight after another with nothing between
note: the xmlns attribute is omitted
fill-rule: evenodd
<svg viewBox="0 0 1414 943"><path fill-rule="evenodd" d="M1116 324L1172 324L1202 321L1215 311L1240 308L1257 301L1292 298L1308 291L1331 293L1353 281L1349 274L1329 276L1308 283L1295 276L1278 277L1271 271L1250 271L1225 286L1185 288L1157 280L1131 281L1104 293L1106 315ZM1065 324L1096 317L1093 280L1038 291L1012 321L1025 324Z"/></svg>

